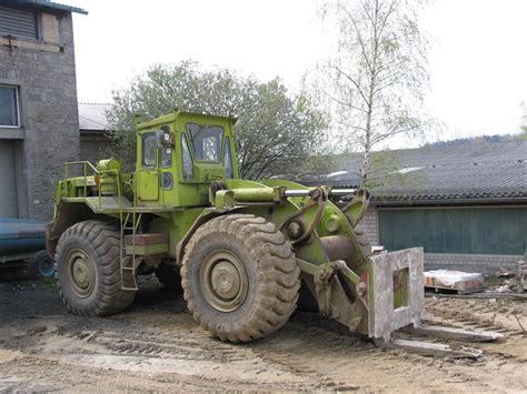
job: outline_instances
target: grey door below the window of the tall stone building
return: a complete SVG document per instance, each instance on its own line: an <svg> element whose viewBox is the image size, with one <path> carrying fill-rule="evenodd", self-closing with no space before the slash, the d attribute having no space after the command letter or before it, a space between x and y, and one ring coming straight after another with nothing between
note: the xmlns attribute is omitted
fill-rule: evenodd
<svg viewBox="0 0 527 394"><path fill-rule="evenodd" d="M14 149L11 141L0 140L0 218L18 218Z"/></svg>

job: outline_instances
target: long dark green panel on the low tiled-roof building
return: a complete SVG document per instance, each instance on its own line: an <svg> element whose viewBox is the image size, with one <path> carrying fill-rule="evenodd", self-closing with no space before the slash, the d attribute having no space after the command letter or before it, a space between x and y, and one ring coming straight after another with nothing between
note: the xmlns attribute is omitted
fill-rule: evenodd
<svg viewBox="0 0 527 394"><path fill-rule="evenodd" d="M520 255L527 245L527 209L470 206L379 210L388 250L422 246L428 253Z"/></svg>

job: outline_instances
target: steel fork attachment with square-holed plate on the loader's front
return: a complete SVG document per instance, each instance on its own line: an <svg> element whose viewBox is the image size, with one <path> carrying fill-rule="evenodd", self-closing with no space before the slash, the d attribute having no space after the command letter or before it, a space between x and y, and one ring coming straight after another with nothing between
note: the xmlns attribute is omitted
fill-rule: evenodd
<svg viewBox="0 0 527 394"><path fill-rule="evenodd" d="M317 242L324 252L316 229L320 224L330 193L326 188L311 190L311 199L279 226L294 244L297 263L307 279L305 283L314 293L322 316L337 320L350 331L366 334L382 346L436 356L475 358L483 352L416 339L432 336L455 342L486 342L503 337L493 332L421 324L425 314L421 247L362 255L366 266L360 276L345 260L328 261L326 253L322 253L325 261L312 261L312 247ZM359 190L341 210L351 229L364 216L367 206L367 191ZM409 335L411 340L400 337L401 334Z"/></svg>

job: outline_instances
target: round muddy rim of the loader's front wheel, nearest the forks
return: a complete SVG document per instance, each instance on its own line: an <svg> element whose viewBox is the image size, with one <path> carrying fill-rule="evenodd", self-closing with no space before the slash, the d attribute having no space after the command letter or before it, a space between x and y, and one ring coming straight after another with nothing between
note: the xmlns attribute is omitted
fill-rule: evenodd
<svg viewBox="0 0 527 394"><path fill-rule="evenodd" d="M210 253L201 264L199 276L203 295L216 310L232 312L243 303L249 277L243 263L233 253Z"/></svg>

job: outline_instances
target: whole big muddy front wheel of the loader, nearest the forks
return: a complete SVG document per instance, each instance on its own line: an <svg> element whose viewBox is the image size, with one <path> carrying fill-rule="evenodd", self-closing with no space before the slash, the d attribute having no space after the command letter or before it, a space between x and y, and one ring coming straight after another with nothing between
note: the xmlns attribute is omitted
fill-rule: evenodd
<svg viewBox="0 0 527 394"><path fill-rule="evenodd" d="M292 246L264 218L212 219L192 235L181 269L195 320L222 341L271 334L295 311L300 269Z"/></svg>

